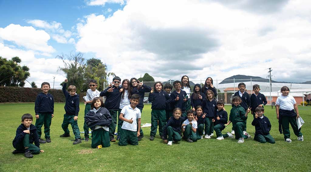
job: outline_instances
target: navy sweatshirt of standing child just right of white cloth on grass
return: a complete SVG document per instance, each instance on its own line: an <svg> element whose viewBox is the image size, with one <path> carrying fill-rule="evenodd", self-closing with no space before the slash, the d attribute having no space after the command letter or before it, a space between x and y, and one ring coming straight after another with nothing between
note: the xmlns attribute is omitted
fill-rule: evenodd
<svg viewBox="0 0 311 172"><path fill-rule="evenodd" d="M152 102L151 109L165 110L166 105L171 103L172 98L165 91L154 91L149 94L148 101Z"/></svg>

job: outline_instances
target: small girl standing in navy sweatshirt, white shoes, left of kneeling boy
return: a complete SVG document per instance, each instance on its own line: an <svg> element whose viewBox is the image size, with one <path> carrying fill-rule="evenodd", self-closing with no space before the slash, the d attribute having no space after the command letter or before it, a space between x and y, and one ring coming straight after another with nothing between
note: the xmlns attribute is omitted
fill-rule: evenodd
<svg viewBox="0 0 311 172"><path fill-rule="evenodd" d="M202 102L203 112L206 113L205 118L205 137L204 138L211 138L214 132L214 114L215 110L217 109L217 102L214 99L214 92L211 90L206 91L207 99L204 99Z"/></svg>

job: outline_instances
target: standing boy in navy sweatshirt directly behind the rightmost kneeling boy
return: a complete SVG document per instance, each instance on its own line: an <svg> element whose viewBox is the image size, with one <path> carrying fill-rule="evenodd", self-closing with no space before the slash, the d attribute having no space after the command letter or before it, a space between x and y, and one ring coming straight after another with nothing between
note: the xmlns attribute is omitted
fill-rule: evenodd
<svg viewBox="0 0 311 172"><path fill-rule="evenodd" d="M264 105L267 104L267 99L266 96L261 94L260 91L260 86L258 84L253 85L253 91L255 93L253 93L251 95L251 107L252 107L252 114L253 117L255 118L255 109L259 106L259 107L263 107Z"/></svg>

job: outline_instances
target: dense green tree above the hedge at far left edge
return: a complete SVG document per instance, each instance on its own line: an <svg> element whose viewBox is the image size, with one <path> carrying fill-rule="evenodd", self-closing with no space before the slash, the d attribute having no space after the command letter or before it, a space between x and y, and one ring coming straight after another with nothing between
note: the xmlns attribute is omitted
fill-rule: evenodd
<svg viewBox="0 0 311 172"><path fill-rule="evenodd" d="M0 86L25 86L25 80L30 77L29 67L20 66L19 63L19 57L7 60L0 56Z"/></svg>

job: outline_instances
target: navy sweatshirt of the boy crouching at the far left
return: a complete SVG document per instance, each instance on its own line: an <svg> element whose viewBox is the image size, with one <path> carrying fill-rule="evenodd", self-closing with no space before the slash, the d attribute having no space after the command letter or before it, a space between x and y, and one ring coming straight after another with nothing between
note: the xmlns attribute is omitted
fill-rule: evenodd
<svg viewBox="0 0 311 172"><path fill-rule="evenodd" d="M16 129L16 136L15 136L13 142L12 142L13 147L15 149L18 149L18 150L24 149L23 140L24 140L24 137L26 135L26 133L23 132L24 130L27 130L27 128L25 127L24 124L21 124ZM35 125L31 124L29 130L30 130L29 143L35 142L35 145L40 147L39 137L38 137L38 133L37 133L37 128L35 127Z"/></svg>

